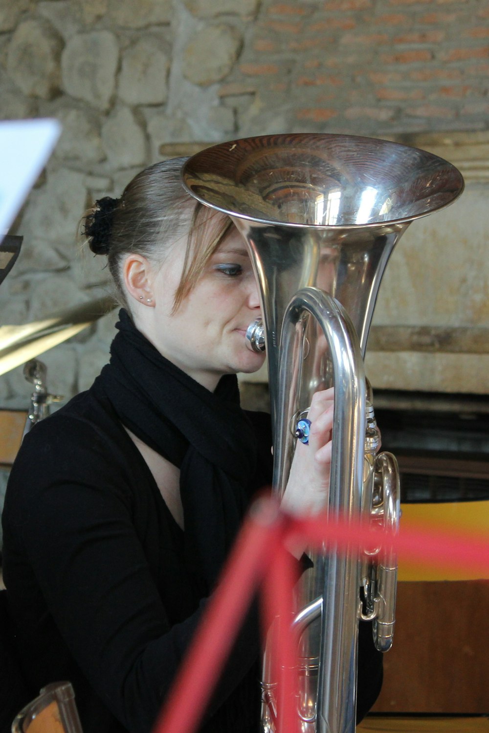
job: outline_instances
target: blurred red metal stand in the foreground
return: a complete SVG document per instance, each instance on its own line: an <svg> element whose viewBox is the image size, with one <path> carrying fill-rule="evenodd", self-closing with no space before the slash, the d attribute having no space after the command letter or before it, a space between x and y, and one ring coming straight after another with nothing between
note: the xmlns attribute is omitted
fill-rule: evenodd
<svg viewBox="0 0 489 733"><path fill-rule="evenodd" d="M182 663L176 683L160 714L153 733L192 733L212 694L220 669L242 624L253 592L264 583L264 622L271 633L275 627L275 676L278 680L277 730L294 731L296 720L296 641L290 633L292 589L296 578L287 547L307 545L362 551L378 545L386 534L354 520L327 520L324 515L296 519L283 515L275 498L253 505L225 566L223 577L209 600L195 640ZM387 537L403 559L430 565L471 567L482 578L489 577L487 535L448 532L411 523L400 534ZM275 622L278 616L278 622ZM292 723L294 725L294 723ZM295 732L294 732L295 733Z"/></svg>

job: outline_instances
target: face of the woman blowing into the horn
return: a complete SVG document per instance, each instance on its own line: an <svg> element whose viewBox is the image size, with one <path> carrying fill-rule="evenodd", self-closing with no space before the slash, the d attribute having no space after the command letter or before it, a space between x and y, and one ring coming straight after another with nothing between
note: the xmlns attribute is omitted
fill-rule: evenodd
<svg viewBox="0 0 489 733"><path fill-rule="evenodd" d="M222 375L255 372L264 363L264 354L245 342L248 326L261 315L258 287L245 243L233 228L172 312L184 249L173 248L154 276L154 308L145 309L152 312L151 332L145 333L163 356L214 390Z"/></svg>

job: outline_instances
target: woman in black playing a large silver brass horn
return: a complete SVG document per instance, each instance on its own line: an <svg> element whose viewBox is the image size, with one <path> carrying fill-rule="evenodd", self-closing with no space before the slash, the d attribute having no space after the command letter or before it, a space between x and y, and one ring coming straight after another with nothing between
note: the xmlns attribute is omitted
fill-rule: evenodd
<svg viewBox="0 0 489 733"><path fill-rule="evenodd" d="M250 259L231 221L184 192L182 163L149 167L86 218L123 306L119 333L92 388L26 436L4 506L4 581L31 694L70 679L85 733L151 730L247 506L271 479L268 416L239 407L236 382L264 360L245 345L260 313ZM309 417L283 497L296 512L324 506L329 391ZM258 729L255 616L206 732ZM363 714L381 661L367 636L360 646Z"/></svg>

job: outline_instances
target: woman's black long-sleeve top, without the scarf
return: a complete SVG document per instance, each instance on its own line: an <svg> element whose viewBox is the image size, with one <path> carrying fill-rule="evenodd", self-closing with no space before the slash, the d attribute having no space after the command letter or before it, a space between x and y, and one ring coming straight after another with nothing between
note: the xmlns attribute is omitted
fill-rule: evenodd
<svg viewBox="0 0 489 733"><path fill-rule="evenodd" d="M255 420L270 463L269 425ZM149 733L206 599L195 603L182 529L97 382L24 439L3 526L4 582L30 696L69 679L84 733ZM361 629L359 717L381 685L369 634ZM252 609L206 731L255 730L258 656Z"/></svg>

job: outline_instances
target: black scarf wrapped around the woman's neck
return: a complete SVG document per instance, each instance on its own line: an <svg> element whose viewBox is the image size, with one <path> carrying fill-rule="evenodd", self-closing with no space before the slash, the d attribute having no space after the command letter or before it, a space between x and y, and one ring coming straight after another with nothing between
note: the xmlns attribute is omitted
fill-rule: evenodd
<svg viewBox="0 0 489 733"><path fill-rule="evenodd" d="M100 383L122 424L180 468L184 553L207 595L259 487L253 426L235 375L211 392L161 356L127 312L119 319Z"/></svg>

